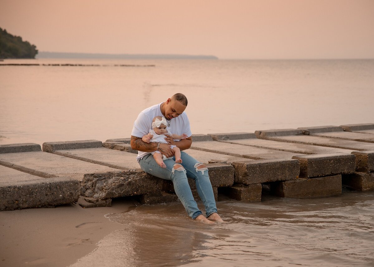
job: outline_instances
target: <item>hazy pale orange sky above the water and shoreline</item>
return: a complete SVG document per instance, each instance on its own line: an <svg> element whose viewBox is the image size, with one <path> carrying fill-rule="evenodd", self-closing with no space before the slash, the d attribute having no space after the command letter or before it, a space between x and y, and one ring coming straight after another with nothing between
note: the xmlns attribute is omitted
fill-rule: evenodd
<svg viewBox="0 0 374 267"><path fill-rule="evenodd" d="M374 0L0 0L39 51L374 58Z"/></svg>

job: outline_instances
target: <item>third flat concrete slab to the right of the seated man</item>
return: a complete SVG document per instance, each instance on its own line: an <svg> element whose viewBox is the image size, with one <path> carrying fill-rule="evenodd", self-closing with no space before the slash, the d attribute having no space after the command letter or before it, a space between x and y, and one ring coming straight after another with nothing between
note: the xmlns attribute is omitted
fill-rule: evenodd
<svg viewBox="0 0 374 267"><path fill-rule="evenodd" d="M231 144L238 145L249 145L251 147L260 147L260 148L269 148L273 150L281 150L292 153L300 154L327 154L327 153L352 153L354 150L343 149L343 148L334 148L334 147L320 147L317 145L306 145L298 143L289 143L289 142L280 142L266 139L236 139L236 140L227 140L222 142L228 142Z"/></svg>

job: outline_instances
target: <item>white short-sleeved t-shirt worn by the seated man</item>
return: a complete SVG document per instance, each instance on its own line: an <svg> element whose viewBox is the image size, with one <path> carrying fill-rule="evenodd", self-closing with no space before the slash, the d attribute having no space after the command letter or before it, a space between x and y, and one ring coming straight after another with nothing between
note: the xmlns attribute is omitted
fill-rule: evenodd
<svg viewBox="0 0 374 267"><path fill-rule="evenodd" d="M146 108L139 114L138 118L134 122L134 128L132 128L132 136L142 138L144 135L148 134L149 130L152 128L153 118L156 116L163 117L160 110L161 104L162 103ZM185 133L188 137L192 135L190 129L190 121L188 120L187 114L185 112L180 114L178 117L171 119L168 129L171 133L177 135L182 135L183 133ZM150 152L138 151L137 161L139 162L142 157L148 154L150 154Z"/></svg>

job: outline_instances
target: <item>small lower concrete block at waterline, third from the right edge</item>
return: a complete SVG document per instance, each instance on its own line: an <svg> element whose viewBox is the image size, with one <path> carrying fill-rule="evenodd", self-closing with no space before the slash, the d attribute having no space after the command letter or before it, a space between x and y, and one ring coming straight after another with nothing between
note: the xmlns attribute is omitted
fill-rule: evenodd
<svg viewBox="0 0 374 267"><path fill-rule="evenodd" d="M245 202L261 201L261 192L261 184L234 184L233 186L220 188L220 193L226 194L232 199Z"/></svg>

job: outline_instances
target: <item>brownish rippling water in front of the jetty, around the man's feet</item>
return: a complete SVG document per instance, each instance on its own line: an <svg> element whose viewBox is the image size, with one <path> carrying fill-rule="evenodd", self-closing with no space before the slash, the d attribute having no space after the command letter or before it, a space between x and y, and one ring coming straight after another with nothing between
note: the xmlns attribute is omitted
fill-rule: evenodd
<svg viewBox="0 0 374 267"><path fill-rule="evenodd" d="M180 203L108 214L124 228L73 266L373 266L374 193L217 204L213 226Z"/></svg>

